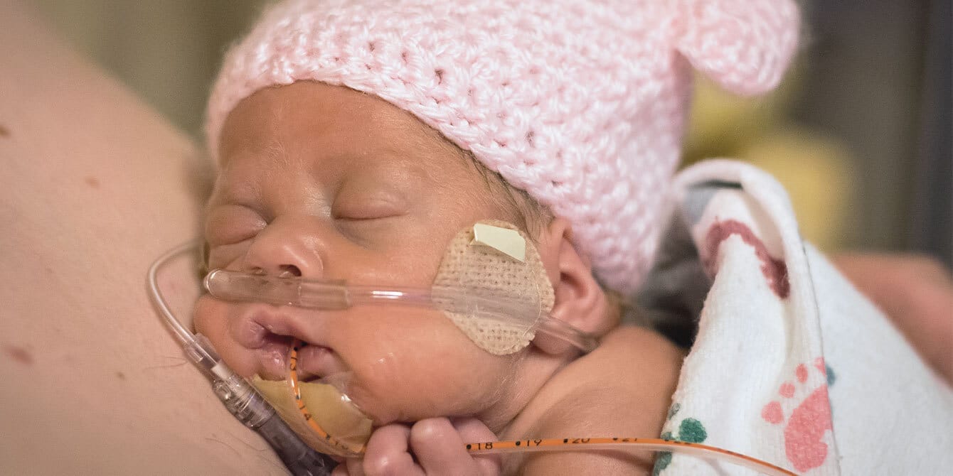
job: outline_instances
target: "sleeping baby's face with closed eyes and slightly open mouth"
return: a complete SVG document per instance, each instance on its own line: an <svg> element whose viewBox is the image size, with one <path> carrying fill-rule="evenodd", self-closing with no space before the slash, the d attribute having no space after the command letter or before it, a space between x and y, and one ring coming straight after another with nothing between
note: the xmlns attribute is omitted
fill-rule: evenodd
<svg viewBox="0 0 953 476"><path fill-rule="evenodd" d="M316 83L242 101L221 138L205 224L209 268L430 288L444 250L478 220L514 221L476 167L401 109ZM314 310L203 296L195 327L243 376L344 376L377 424L492 413L517 356L476 347L436 310Z"/></svg>

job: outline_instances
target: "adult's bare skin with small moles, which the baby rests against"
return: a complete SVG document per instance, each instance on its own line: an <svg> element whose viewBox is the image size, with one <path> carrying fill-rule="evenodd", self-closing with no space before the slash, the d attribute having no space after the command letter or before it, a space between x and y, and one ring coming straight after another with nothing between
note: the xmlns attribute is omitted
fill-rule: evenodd
<svg viewBox="0 0 953 476"><path fill-rule="evenodd" d="M193 144L2 4L0 473L283 474L147 299L197 231Z"/></svg>

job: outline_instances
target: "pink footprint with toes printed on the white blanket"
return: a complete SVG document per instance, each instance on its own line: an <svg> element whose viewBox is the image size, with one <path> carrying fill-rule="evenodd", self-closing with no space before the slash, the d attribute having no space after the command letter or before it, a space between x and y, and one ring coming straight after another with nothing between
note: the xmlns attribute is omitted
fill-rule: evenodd
<svg viewBox="0 0 953 476"><path fill-rule="evenodd" d="M826 376L823 358L818 357L814 361L814 367ZM808 368L803 364L795 369L795 378L801 386L807 382L807 372ZM774 425L785 423L781 401L793 398L797 389L792 382L781 384L778 389L781 399L761 408L761 418ZM827 386L822 384L797 403L787 415L784 426L784 452L795 469L806 471L824 463L827 458L827 444L821 439L829 429L832 429L830 401L827 399Z"/></svg>

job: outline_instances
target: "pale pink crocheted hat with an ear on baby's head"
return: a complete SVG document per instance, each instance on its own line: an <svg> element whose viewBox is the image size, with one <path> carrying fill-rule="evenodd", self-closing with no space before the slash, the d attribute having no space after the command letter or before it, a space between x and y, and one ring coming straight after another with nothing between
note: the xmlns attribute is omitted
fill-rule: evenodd
<svg viewBox="0 0 953 476"><path fill-rule="evenodd" d="M657 248L691 67L772 89L798 30L792 0L294 0L225 57L208 144L217 160L222 123L257 89L373 93L568 219L598 278L628 293Z"/></svg>

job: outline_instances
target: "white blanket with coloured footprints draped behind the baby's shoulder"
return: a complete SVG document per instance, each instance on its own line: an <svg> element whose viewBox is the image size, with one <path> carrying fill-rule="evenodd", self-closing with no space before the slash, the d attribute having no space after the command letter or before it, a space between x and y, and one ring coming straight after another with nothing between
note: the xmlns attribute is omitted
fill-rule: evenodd
<svg viewBox="0 0 953 476"><path fill-rule="evenodd" d="M679 173L671 209L640 303L695 340L663 438L799 474L953 474L953 390L801 241L772 177L703 162ZM656 474L755 473L663 454Z"/></svg>

